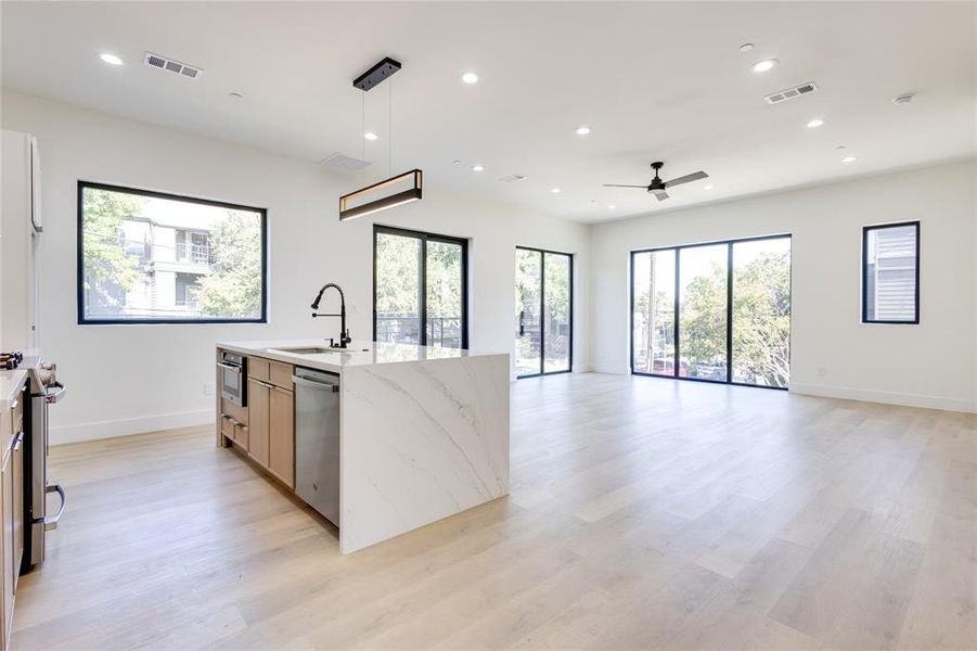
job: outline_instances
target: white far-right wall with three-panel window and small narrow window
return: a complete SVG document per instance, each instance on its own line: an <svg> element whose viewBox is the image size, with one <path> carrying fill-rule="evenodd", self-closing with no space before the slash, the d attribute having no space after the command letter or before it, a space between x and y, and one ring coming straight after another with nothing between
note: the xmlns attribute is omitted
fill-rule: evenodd
<svg viewBox="0 0 977 651"><path fill-rule="evenodd" d="M593 227L594 370L628 372L629 251L792 233L792 391L974 410L975 168L951 163ZM862 227L914 219L921 323L862 324Z"/></svg>

